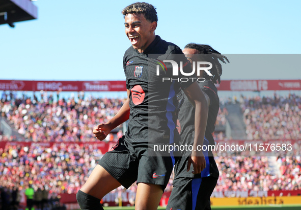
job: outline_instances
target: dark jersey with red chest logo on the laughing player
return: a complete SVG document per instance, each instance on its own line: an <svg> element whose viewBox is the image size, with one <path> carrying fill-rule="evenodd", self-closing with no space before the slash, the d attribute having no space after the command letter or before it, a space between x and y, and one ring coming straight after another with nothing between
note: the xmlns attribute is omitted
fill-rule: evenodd
<svg viewBox="0 0 301 210"><path fill-rule="evenodd" d="M183 71L191 72L189 61L181 49L159 36L143 53L130 46L124 54L126 87L130 90L130 116L125 133L129 142L173 143L174 139L179 139L176 94L193 81L181 82L172 75L172 64L163 60L182 61ZM163 81L163 78L175 79Z"/></svg>

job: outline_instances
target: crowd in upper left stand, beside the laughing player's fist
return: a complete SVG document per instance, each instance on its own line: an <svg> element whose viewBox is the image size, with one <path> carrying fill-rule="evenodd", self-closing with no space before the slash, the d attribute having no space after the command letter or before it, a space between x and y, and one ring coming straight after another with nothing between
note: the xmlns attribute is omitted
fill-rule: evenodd
<svg viewBox="0 0 301 210"><path fill-rule="evenodd" d="M41 100L22 96L11 100L2 98L2 116L14 125L18 133L33 142L93 142L97 139L91 130L99 123L112 118L123 105L125 99L84 100L84 96L53 100L53 96ZM121 127L119 127L121 128ZM119 136L107 137L116 141ZM115 138L115 139L113 139Z"/></svg>

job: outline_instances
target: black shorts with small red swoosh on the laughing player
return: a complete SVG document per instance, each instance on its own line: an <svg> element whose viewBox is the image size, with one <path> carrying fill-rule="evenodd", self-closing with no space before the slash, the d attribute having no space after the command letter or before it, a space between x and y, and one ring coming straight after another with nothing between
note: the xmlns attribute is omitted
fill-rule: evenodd
<svg viewBox="0 0 301 210"><path fill-rule="evenodd" d="M122 136L98 164L126 189L137 181L161 185L164 191L173 170L173 157L159 153L157 156L149 156L148 149L148 143L129 143Z"/></svg>

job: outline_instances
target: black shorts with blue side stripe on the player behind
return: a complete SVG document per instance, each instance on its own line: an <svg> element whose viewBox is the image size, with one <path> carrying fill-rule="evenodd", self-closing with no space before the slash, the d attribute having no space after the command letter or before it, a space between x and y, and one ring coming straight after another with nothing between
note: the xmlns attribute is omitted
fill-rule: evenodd
<svg viewBox="0 0 301 210"><path fill-rule="evenodd" d="M180 177L173 182L174 188L166 209L210 210L210 196L217 183L217 178Z"/></svg>

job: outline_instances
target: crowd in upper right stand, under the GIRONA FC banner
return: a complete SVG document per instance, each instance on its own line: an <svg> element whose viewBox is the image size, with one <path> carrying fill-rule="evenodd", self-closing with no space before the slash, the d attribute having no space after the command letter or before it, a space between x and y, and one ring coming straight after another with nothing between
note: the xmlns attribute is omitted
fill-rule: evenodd
<svg viewBox="0 0 301 210"><path fill-rule="evenodd" d="M301 97L243 98L241 109L248 139L301 139Z"/></svg>

